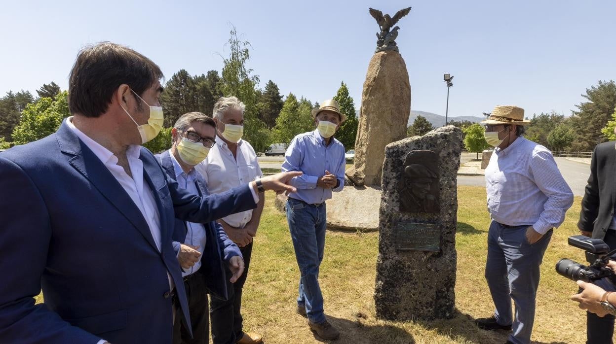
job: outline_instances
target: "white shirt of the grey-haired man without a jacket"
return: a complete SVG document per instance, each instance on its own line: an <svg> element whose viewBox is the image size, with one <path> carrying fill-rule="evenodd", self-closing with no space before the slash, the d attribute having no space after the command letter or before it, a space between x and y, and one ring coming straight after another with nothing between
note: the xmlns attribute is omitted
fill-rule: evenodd
<svg viewBox="0 0 616 344"><path fill-rule="evenodd" d="M257 162L257 154L248 142L240 140L237 143L236 156L237 158L233 158L227 143L216 136L216 145L209 150L205 160L195 166L195 170L205 179L210 193L222 193L263 176ZM258 202L259 198L252 186L251 191L253 197L256 196L255 202ZM246 210L223 217L222 220L232 227L244 228L252 217L253 210Z"/></svg>

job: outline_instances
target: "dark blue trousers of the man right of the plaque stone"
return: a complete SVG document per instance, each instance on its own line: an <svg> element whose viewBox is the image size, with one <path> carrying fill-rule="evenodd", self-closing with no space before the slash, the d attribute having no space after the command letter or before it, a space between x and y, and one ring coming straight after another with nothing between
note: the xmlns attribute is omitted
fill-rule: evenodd
<svg viewBox="0 0 616 344"><path fill-rule="evenodd" d="M508 340L515 344L530 343L535 321L539 266L553 232L549 230L531 245L525 236L527 227L506 228L492 221L488 231L485 279L496 308L496 322L512 324L513 332ZM515 318L511 314L512 298L516 306Z"/></svg>

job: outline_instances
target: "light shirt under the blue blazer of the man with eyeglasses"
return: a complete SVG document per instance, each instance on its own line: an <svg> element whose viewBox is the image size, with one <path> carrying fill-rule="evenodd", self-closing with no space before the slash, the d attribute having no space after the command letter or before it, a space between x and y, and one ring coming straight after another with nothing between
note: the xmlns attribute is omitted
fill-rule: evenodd
<svg viewBox="0 0 616 344"><path fill-rule="evenodd" d="M173 153L171 153L171 150L169 150L169 155L171 155L171 161L173 163L173 170L174 170L174 173L176 174L176 181L179 187L187 190L190 193L199 194L199 191L197 190L197 184L195 184L196 182L195 175L198 172L195 171L195 169L192 169L190 170L190 172L188 172L188 174L186 174L186 172L184 172L184 170L182 169L182 166L180 166L179 162L177 162L176 157L173 156ZM201 253L201 255L199 256L197 262L195 262L195 265L190 266L190 268L185 269L185 271L182 271L182 277L188 276L189 274L193 274L197 272L199 268L201 268L201 257L203 257L203 249L205 249L205 244L206 244L206 239L207 239L207 237L205 236L205 227L201 223L194 223L194 222L187 221L186 230L187 230L187 233L186 233L186 239L184 239L184 244L189 244L192 246L199 246L197 250ZM174 241L173 246L179 249L180 243L177 241Z"/></svg>

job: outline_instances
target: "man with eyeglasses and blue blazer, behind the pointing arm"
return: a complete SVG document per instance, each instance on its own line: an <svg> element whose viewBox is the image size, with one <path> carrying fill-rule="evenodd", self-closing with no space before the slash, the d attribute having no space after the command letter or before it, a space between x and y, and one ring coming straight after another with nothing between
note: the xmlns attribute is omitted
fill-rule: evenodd
<svg viewBox="0 0 616 344"><path fill-rule="evenodd" d="M180 188L200 196L209 194L205 181L194 167L206 158L215 144L214 120L199 112L183 114L171 129L171 137L171 149L156 155L156 159ZM217 222L202 224L176 219L175 228L172 244L183 270L193 337L190 337L184 322L176 317L173 342L207 343L208 293L228 298L222 260L232 273L230 282L235 282L244 270L243 258Z"/></svg>

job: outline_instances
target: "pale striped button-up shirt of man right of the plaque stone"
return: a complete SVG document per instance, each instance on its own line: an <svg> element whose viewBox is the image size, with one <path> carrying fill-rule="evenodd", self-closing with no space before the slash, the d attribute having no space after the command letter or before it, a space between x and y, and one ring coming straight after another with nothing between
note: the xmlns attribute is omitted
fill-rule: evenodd
<svg viewBox="0 0 616 344"><path fill-rule="evenodd" d="M493 220L532 225L541 234L561 225L573 204L573 193L552 153L524 137L494 150L485 168L485 191Z"/></svg>

